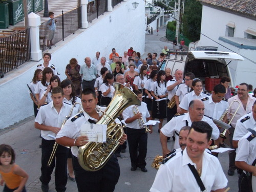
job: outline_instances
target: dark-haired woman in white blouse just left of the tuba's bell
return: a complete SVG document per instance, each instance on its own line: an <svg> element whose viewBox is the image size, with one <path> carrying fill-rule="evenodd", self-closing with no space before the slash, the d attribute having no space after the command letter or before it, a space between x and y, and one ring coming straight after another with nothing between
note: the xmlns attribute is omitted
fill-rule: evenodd
<svg viewBox="0 0 256 192"><path fill-rule="evenodd" d="M112 86L114 82L114 75L112 73L107 73L105 78L100 86L101 89L101 99L100 106L108 106L111 102L111 99L114 95L115 89Z"/></svg>

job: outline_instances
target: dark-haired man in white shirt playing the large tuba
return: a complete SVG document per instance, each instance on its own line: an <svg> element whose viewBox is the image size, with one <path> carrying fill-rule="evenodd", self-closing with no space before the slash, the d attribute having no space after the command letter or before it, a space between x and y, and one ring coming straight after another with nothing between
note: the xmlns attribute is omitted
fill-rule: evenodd
<svg viewBox="0 0 256 192"><path fill-rule="evenodd" d="M81 125L96 123L102 113L97 113L97 97L93 89L84 89L81 95L83 113L71 117L60 132L57 134L57 143L63 146L72 146L73 167L75 172L76 184L79 192L83 191L114 191L115 185L120 176L120 167L117 157L112 155L108 162L95 172L84 170L77 159L78 147L88 143L87 136L81 136ZM104 108L101 108L102 110ZM123 144L127 136L124 134L119 140Z"/></svg>

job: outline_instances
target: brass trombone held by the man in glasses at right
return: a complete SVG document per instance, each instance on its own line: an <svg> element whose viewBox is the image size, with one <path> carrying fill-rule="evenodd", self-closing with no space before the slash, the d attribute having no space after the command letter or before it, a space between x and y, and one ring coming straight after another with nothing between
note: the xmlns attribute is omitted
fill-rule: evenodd
<svg viewBox="0 0 256 192"><path fill-rule="evenodd" d="M236 111L232 114L232 113L229 113L228 110L230 109L231 105L232 105L234 102L238 102L238 107L237 107ZM226 139L226 132L227 132L227 130L230 128L230 123L232 122L234 116L237 114L237 112L238 112L240 106L241 106L241 104L240 104L239 101L233 100L233 101L231 102L231 104L229 105L228 109L226 109L226 110L224 111L224 113L222 114L222 116L220 117L220 120L214 119L215 123L219 124L222 128L225 129L225 130L220 134L220 136L221 136L222 138ZM225 123L225 122L223 122L223 119L224 119L224 117L226 116L227 113L230 114L230 115L232 115L232 117L231 117L231 119L228 121L228 123Z"/></svg>

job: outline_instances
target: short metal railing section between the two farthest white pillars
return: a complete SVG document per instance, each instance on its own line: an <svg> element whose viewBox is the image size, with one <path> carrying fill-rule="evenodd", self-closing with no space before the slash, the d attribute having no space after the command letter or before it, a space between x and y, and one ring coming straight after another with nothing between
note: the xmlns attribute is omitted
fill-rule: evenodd
<svg viewBox="0 0 256 192"><path fill-rule="evenodd" d="M87 6L87 21L92 22L93 19L98 18L99 15L103 15L108 11L108 0L96 0L90 2Z"/></svg>

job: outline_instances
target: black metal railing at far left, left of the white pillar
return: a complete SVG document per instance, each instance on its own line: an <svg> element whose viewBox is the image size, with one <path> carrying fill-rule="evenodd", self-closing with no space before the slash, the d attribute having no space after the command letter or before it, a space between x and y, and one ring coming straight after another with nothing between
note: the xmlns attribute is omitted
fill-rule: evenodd
<svg viewBox="0 0 256 192"><path fill-rule="evenodd" d="M30 28L0 39L0 74L31 59Z"/></svg>

